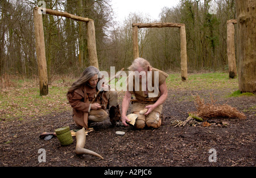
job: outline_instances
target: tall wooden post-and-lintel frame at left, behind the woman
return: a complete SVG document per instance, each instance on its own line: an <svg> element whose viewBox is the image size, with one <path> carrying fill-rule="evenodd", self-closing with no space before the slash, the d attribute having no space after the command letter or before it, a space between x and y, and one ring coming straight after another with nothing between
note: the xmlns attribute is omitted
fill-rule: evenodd
<svg viewBox="0 0 256 178"><path fill-rule="evenodd" d="M34 7L34 23L35 23L35 40L36 40L36 58L38 62L39 73L39 88L40 96L48 94L48 77L47 77L47 64L46 64L46 49L44 45L44 30L43 30L43 18L42 13L56 16L64 16L77 21L86 22L87 38L88 38L88 54L90 65L98 68L98 58L96 51L96 39L94 21L89 18L83 18L69 13L63 13L51 9L45 9L42 7Z"/></svg>

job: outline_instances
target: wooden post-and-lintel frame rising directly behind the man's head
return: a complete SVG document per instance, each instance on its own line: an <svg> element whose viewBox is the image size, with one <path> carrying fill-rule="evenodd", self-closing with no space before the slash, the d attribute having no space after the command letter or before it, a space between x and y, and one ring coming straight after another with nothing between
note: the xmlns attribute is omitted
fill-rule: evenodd
<svg viewBox="0 0 256 178"><path fill-rule="evenodd" d="M183 23L133 23L133 57L136 59L139 57L139 45L138 45L138 28L162 28L162 27L176 27L180 28L180 65L181 65L181 80L187 81L188 69L187 69L187 41L185 24Z"/></svg>

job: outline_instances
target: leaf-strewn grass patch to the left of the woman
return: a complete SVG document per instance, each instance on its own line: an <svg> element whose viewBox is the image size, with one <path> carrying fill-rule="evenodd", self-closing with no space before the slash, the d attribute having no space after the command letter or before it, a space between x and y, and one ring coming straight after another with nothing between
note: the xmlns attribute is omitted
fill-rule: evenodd
<svg viewBox="0 0 256 178"><path fill-rule="evenodd" d="M40 96L39 88L2 89L0 94L0 120L39 117L52 112L71 110L66 98L68 86L49 86L49 94Z"/></svg>

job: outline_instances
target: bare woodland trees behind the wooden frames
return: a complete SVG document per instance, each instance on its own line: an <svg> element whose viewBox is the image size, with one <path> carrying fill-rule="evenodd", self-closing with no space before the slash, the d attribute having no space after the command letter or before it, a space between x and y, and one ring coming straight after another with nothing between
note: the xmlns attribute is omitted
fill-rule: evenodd
<svg viewBox="0 0 256 178"><path fill-rule="evenodd" d="M32 9L36 0L0 1L0 75L38 75ZM184 23L188 72L228 70L226 21L236 19L235 0L215 0L217 14L209 14L209 0L181 0L163 7L154 21L145 14L130 14L114 22L111 0L45 0L48 9L66 11L94 20L100 70L127 68L133 61L132 23ZM156 2L157 3L157 2ZM143 8L143 7L142 7ZM60 16L43 15L48 81L55 74L77 76L88 67L86 24ZM236 28L236 26L235 26ZM236 38L236 36L235 36ZM140 56L163 71L180 69L177 28L141 28ZM236 40L235 40L236 42ZM236 46L236 44L235 44Z"/></svg>

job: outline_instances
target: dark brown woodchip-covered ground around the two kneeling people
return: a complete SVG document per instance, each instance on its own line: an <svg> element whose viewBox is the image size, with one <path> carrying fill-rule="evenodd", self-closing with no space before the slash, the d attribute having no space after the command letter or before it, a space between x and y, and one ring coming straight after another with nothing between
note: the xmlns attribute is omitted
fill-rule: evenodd
<svg viewBox="0 0 256 178"><path fill-rule="evenodd" d="M85 147L98 152L104 160L91 155L75 154L76 139L69 146L60 146L57 138L39 139L44 131L63 126L77 129L71 111L52 113L26 121L1 121L0 166L255 166L255 106L256 97L224 98L225 91L197 91L209 101L209 93L220 104L244 111L247 119L215 118L215 126L174 127L172 121L184 121L188 111L195 111L191 92L169 91L164 104L165 121L159 129L136 130L133 127L113 127L109 120L93 123L94 131L86 137ZM120 96L119 96L120 97ZM122 96L121 96L122 97ZM121 102L121 101L120 101ZM221 121L228 126L218 125ZM125 135L115 135L125 131ZM39 163L38 150L46 150L46 162ZM216 150L216 162L209 156ZM210 157L212 158L212 157Z"/></svg>

